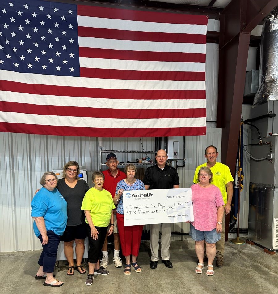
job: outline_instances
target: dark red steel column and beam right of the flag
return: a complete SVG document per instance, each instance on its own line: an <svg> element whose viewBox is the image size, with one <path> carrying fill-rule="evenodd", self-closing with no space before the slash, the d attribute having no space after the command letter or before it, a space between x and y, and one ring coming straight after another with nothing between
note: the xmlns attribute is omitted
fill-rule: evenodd
<svg viewBox="0 0 278 294"><path fill-rule="evenodd" d="M221 162L235 172L250 32L278 0L232 0L220 15L217 127ZM229 218L229 217L228 217ZM225 221L225 240L229 221Z"/></svg>

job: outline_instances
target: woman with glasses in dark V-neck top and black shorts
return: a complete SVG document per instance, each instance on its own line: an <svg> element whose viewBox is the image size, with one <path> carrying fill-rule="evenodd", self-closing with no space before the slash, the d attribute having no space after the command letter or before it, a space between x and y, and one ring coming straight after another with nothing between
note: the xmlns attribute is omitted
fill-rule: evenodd
<svg viewBox="0 0 278 294"><path fill-rule="evenodd" d="M85 193L89 190L88 184L78 177L79 164L70 161L65 164L62 179L59 179L57 189L68 203L68 222L61 240L64 241L64 253L69 262L67 275L74 275L74 270L85 274L86 270L81 262L84 254L84 239L87 237L85 215L81 210ZM74 267L73 243L75 242L76 266Z"/></svg>

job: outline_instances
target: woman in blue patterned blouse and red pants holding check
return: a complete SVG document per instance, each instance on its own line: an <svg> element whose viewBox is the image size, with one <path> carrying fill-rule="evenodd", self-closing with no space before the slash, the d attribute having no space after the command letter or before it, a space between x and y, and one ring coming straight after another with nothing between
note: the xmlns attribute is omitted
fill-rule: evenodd
<svg viewBox="0 0 278 294"><path fill-rule="evenodd" d="M139 254L143 226L124 226L123 192L130 190L145 190L145 186L142 181L134 178L136 174L136 166L134 164L129 163L127 166L125 166L124 172L126 173L126 179L121 180L117 184L116 194L113 201L115 205L118 204L118 231L120 235L122 253L125 256L126 262L124 267L124 274L130 275L131 268L133 268L137 273L140 273L142 270L141 266L137 264L137 256Z"/></svg>

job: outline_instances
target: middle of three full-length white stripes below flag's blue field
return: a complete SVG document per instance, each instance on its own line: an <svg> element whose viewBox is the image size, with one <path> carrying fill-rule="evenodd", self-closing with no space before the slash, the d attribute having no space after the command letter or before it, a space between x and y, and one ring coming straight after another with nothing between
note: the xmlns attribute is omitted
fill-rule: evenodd
<svg viewBox="0 0 278 294"><path fill-rule="evenodd" d="M32 87L30 87L32 88ZM30 91L32 92L32 91ZM36 92L36 91L33 91ZM40 92L40 91L38 91ZM61 93L63 93L61 91ZM82 93L81 91L79 93ZM48 106L70 106L70 107L92 107L92 108L106 108L106 109L123 109L123 106L128 107L130 110L134 109L198 109L206 108L205 99L111 99L111 98L95 98L95 97L73 97L61 95L40 95L36 93L21 93L19 96L16 92L2 91L1 100L5 102L18 102L36 105L40 101L40 105Z"/></svg>

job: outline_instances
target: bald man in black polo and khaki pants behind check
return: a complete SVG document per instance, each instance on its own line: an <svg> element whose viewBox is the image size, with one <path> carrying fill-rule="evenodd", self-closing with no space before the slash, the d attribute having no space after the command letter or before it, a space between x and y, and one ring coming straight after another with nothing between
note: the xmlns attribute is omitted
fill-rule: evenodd
<svg viewBox="0 0 278 294"><path fill-rule="evenodd" d="M158 150L155 157L157 165L147 168L144 176L144 185L148 189L172 189L179 188L179 176L174 167L166 165L168 159L165 150ZM150 225L150 249L151 263L150 268L156 269L158 263L158 239L161 227L161 261L166 267L172 268L170 261L170 223L158 223Z"/></svg>

